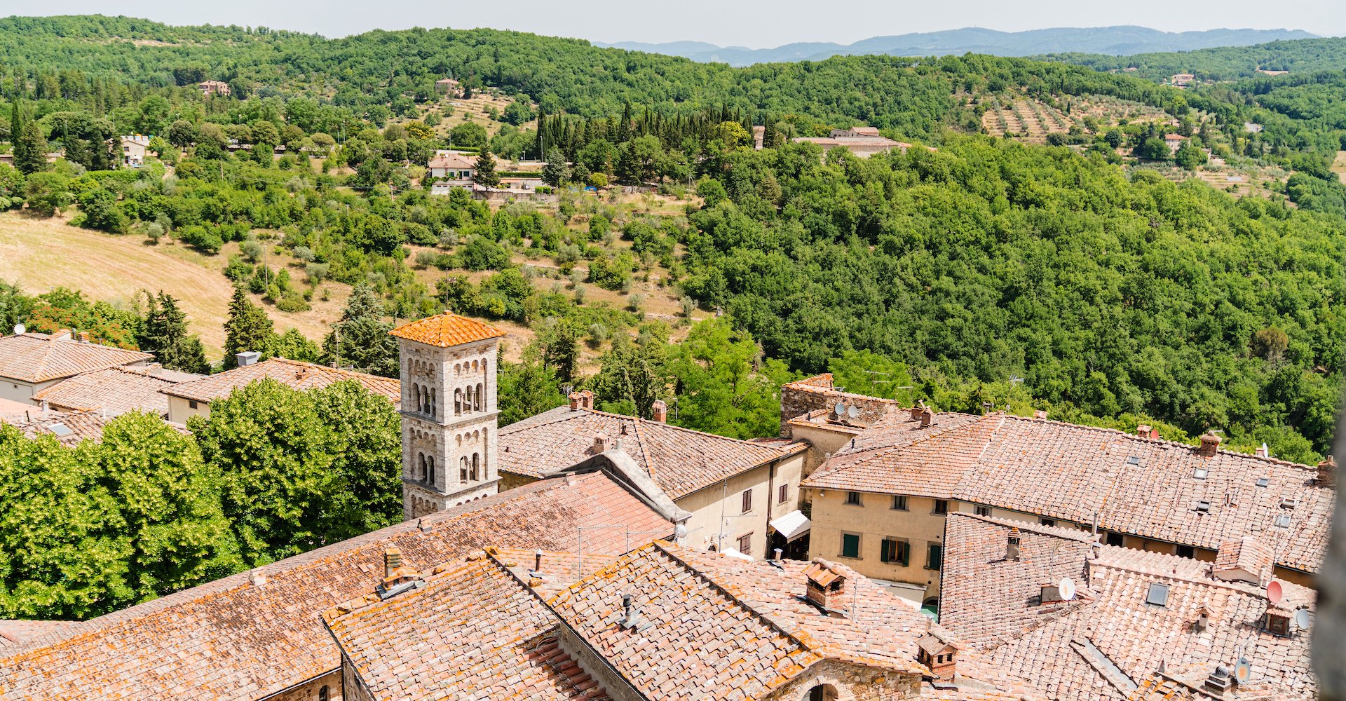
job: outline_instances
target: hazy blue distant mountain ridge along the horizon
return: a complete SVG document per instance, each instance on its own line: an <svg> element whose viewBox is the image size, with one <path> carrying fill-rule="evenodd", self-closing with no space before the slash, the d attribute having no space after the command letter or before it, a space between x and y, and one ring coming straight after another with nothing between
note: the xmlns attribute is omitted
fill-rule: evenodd
<svg viewBox="0 0 1346 701"><path fill-rule="evenodd" d="M791 61L822 61L839 55L887 54L894 57L930 57L945 54L991 54L997 57L1031 57L1042 54L1108 54L1131 55L1163 51L1193 51L1222 46L1253 46L1281 39L1312 39L1316 35L1303 30L1206 30L1191 32L1164 32L1148 27L1058 27L1003 32L965 27L938 32L874 36L853 44L828 42L801 42L775 48L720 47L705 42L596 43L631 51L684 57L703 63L779 63Z"/></svg>

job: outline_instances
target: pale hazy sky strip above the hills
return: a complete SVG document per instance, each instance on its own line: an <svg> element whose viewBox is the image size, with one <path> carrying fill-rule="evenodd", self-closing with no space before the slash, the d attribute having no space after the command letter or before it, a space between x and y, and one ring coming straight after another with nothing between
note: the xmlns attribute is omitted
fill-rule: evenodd
<svg viewBox="0 0 1346 701"><path fill-rule="evenodd" d="M1346 35L1343 0L0 0L4 15L129 15L170 24L244 24L345 36L373 28L494 27L596 42L693 39L721 46L849 43L958 27L1018 31L1140 24L1164 31L1306 30Z"/></svg>

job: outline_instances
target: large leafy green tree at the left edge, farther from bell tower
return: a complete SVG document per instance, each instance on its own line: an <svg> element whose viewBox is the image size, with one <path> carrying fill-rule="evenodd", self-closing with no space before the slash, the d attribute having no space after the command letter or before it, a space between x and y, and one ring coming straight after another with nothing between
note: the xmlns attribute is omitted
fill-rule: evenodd
<svg viewBox="0 0 1346 701"><path fill-rule="evenodd" d="M78 448L0 425L0 616L87 618L237 572L218 488L157 416Z"/></svg>

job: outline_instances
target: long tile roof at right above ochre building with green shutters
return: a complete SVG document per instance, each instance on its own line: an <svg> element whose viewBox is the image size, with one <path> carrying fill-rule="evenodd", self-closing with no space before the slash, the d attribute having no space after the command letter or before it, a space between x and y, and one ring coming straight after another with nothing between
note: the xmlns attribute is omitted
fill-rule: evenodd
<svg viewBox="0 0 1346 701"><path fill-rule="evenodd" d="M1277 540L1280 565L1316 572L1337 492L1315 475L1284 460L1203 456L1113 429L940 413L927 428L902 414L880 420L804 486L960 499L1084 525L1097 514L1100 529L1211 550L1261 533ZM1289 527L1273 526L1287 514Z"/></svg>

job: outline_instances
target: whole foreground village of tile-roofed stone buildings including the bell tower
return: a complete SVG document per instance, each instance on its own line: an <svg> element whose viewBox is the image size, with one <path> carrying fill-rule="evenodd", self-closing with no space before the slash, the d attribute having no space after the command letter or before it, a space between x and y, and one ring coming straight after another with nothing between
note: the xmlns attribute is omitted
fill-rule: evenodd
<svg viewBox="0 0 1346 701"><path fill-rule="evenodd" d="M260 378L355 379L401 413L406 521L86 622L0 622L4 701L1316 697L1331 457L826 374L754 440L584 390L499 427L503 334L454 313L392 331L397 379L256 354L186 375L17 331L0 421L62 441Z"/></svg>

